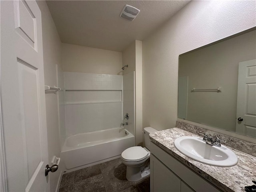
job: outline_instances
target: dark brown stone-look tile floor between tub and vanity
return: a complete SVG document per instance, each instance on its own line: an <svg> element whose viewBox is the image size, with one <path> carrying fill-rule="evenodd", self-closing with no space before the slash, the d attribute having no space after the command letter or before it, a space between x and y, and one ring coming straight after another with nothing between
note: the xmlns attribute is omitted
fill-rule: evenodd
<svg viewBox="0 0 256 192"><path fill-rule="evenodd" d="M138 182L126 179L121 159L64 174L59 192L149 192L150 178Z"/></svg>

